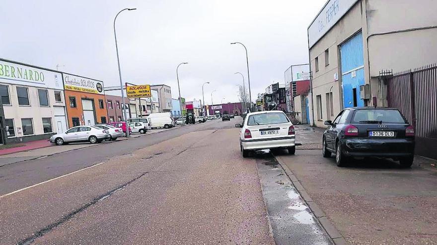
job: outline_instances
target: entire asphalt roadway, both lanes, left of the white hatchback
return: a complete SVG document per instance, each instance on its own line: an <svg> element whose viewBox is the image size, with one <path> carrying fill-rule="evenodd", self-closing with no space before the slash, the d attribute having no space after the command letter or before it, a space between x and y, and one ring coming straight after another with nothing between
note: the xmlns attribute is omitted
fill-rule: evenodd
<svg viewBox="0 0 437 245"><path fill-rule="evenodd" d="M274 244L257 170L213 121L2 168L0 244Z"/></svg>

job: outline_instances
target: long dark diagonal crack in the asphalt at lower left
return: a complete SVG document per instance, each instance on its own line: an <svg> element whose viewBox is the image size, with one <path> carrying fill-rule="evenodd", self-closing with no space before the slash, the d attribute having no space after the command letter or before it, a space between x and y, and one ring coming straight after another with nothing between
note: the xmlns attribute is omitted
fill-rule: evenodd
<svg viewBox="0 0 437 245"><path fill-rule="evenodd" d="M70 213L64 215L61 219L57 220L56 222L44 227L43 229L33 233L32 236L25 238L19 242L17 242L17 245L28 245L28 244L32 244L36 239L44 236L46 233L49 233L52 229L64 224L65 222L69 221L71 218L73 218L74 215L86 210L88 207L96 204L99 201L102 201L106 198L108 198L109 196L111 196L112 194L114 194L115 192L120 191L121 189L125 188L126 186L132 184L133 182L139 180L140 178L142 178L143 176L145 176L148 172L144 172L142 174L140 174L139 176L135 177L134 179L121 184L119 186L117 186L116 188L110 190L107 193L104 193L100 196L96 196L94 197L91 201L85 203L84 205L80 206L79 208L71 211Z"/></svg>

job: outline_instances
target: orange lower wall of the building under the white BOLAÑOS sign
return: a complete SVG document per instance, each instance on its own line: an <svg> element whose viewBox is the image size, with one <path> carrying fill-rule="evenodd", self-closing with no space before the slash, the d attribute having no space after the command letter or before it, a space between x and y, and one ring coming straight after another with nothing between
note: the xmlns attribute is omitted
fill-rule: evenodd
<svg viewBox="0 0 437 245"><path fill-rule="evenodd" d="M97 95L91 93L77 92L77 91L69 91L65 90L65 104L67 106L67 117L69 128L73 127L73 117L78 117L80 120L80 124L84 125L83 121L83 110L82 110L82 98L93 99L94 100L94 111L95 111L95 120L96 123L101 123L101 117L106 117L106 121L108 122L108 111L106 110L106 100L104 95ZM76 108L70 107L70 97L76 98ZM99 107L99 99L103 100L103 109Z"/></svg>

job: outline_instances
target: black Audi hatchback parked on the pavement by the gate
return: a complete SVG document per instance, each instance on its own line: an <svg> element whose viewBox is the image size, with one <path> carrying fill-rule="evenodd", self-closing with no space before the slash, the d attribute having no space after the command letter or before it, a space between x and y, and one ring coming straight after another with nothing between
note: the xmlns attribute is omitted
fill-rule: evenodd
<svg viewBox="0 0 437 245"><path fill-rule="evenodd" d="M323 133L323 156L334 153L337 166L370 156L399 160L404 168L413 164L414 128L397 109L347 108L325 125L329 127Z"/></svg>

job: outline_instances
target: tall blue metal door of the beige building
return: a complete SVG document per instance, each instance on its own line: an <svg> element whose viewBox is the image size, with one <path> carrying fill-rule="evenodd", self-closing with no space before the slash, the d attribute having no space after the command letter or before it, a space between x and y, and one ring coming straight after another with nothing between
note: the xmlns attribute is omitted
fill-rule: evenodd
<svg viewBox="0 0 437 245"><path fill-rule="evenodd" d="M364 85L363 34L360 32L340 46L344 107L364 106L360 86Z"/></svg>

